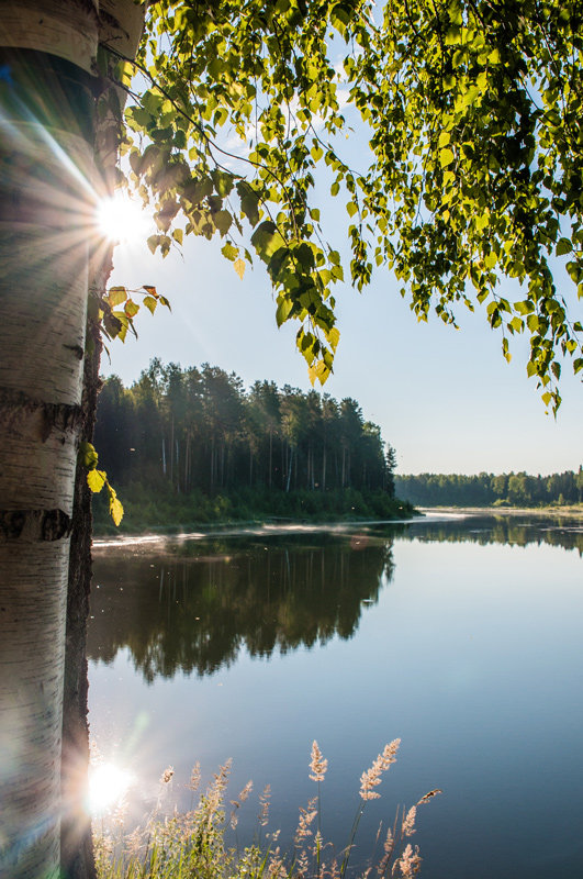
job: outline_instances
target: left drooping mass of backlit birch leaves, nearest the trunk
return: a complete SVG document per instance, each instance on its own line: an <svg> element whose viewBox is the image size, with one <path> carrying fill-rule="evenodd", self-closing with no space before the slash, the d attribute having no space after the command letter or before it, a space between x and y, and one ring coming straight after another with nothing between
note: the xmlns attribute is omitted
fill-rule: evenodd
<svg viewBox="0 0 583 879"><path fill-rule="evenodd" d="M316 164L332 169L335 191L356 191L332 146L346 123L329 49L334 37L368 40L369 19L363 0L164 0L149 11L135 66L145 88L126 111L130 182L158 226L152 251L218 234L239 277L255 252L273 285L278 324L300 323L312 382L332 371L332 290L344 280L311 198Z"/></svg>

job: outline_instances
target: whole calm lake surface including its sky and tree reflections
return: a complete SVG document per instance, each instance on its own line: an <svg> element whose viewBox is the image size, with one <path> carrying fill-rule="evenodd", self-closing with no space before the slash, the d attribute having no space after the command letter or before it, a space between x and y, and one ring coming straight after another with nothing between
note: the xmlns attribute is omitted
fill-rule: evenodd
<svg viewBox="0 0 583 879"><path fill-rule="evenodd" d="M91 736L132 774L134 820L168 765L188 809L193 765L208 781L232 757L227 799L254 781L239 841L269 783L283 848L313 739L341 847L361 772L400 737L356 863L440 788L412 838L425 879L581 879L582 553L583 523L527 516L97 541Z"/></svg>

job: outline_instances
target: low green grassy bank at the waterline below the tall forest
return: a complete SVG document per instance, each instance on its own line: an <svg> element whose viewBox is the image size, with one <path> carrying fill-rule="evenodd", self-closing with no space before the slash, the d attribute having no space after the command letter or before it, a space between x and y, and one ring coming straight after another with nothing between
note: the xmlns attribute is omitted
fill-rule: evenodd
<svg viewBox="0 0 583 879"><path fill-rule="evenodd" d="M124 518L119 528L111 521L104 494L93 498L96 534L135 534L145 531L184 531L214 523L250 521L332 522L359 519L408 519L412 504L383 491L270 491L239 489L209 497L201 491L178 494L168 486L139 482L119 488Z"/></svg>

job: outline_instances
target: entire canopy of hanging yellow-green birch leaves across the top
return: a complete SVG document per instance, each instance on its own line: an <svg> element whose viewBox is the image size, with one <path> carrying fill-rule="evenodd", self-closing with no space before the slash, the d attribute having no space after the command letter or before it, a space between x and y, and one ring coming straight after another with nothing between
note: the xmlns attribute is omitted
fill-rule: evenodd
<svg viewBox="0 0 583 879"><path fill-rule="evenodd" d="M529 335L527 371L556 410L563 357L583 367L561 292L583 296L582 11L581 0L386 0L379 21L367 0L155 3L137 64L116 64L137 89L125 151L155 209L152 249L218 233L243 275L250 231L278 324L300 322L298 347L323 382L344 269L319 229L322 165L347 199L352 283L389 267L419 320L433 308L455 323L460 303L483 304L508 359L508 335ZM360 174L337 147L339 82L368 126Z"/></svg>

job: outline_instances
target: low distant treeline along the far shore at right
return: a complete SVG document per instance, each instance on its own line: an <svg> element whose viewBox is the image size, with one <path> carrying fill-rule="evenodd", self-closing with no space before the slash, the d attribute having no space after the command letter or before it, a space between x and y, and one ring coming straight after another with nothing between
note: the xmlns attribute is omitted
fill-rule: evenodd
<svg viewBox="0 0 583 879"><path fill-rule="evenodd" d="M415 507L546 507L583 502L583 468L550 476L526 472L395 476L395 492Z"/></svg>

